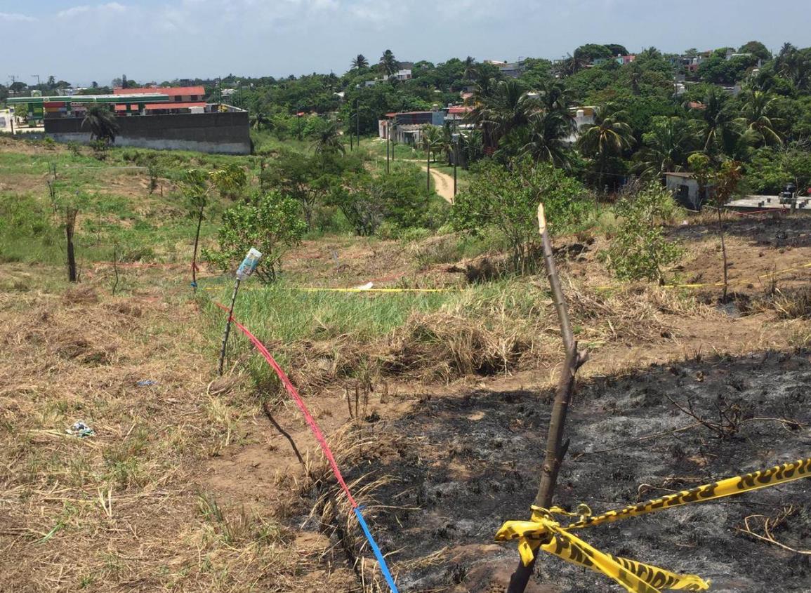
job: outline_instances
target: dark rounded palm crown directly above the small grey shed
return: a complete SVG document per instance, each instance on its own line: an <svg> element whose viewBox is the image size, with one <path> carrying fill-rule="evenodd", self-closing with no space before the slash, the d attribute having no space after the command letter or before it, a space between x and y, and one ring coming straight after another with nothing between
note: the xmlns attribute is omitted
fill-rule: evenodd
<svg viewBox="0 0 811 593"><path fill-rule="evenodd" d="M684 117L654 117L650 130L642 134L642 149L637 153L638 169L643 176L678 172L687 166L687 159L698 143L693 122Z"/></svg>

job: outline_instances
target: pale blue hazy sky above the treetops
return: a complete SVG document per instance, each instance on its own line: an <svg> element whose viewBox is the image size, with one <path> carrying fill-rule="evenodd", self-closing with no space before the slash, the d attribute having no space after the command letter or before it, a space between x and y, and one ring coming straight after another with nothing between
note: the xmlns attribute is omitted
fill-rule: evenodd
<svg viewBox="0 0 811 593"><path fill-rule="evenodd" d="M342 74L363 53L400 60L563 57L762 41L811 45L809 0L0 0L0 83L101 85L220 75ZM657 7L661 5L661 7Z"/></svg>

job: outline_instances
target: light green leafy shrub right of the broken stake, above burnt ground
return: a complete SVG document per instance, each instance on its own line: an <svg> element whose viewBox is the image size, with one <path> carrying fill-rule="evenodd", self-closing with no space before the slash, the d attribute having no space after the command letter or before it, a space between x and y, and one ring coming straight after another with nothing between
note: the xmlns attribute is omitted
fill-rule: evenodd
<svg viewBox="0 0 811 593"><path fill-rule="evenodd" d="M665 237L663 222L677 211L672 194L652 181L616 203L620 223L607 250L608 267L620 279L664 280L664 270L684 249Z"/></svg>

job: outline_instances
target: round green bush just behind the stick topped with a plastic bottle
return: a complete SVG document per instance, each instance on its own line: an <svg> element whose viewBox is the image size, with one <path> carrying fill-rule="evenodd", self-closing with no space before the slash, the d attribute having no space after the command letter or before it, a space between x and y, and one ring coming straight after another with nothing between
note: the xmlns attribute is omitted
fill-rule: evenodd
<svg viewBox="0 0 811 593"><path fill-rule="evenodd" d="M298 205L278 192L255 197L222 215L217 233L218 250L203 250L203 257L222 271L234 271L251 247L260 250L262 261L256 275L272 282L281 272L285 250L298 245L307 225L298 217Z"/></svg>

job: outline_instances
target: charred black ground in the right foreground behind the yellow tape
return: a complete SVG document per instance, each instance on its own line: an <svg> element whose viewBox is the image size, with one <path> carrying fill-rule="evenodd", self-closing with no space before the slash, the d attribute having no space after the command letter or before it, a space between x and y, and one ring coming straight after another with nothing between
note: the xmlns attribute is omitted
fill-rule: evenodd
<svg viewBox="0 0 811 593"><path fill-rule="evenodd" d="M669 399L668 399L669 398ZM671 399L706 420L689 430L642 442L641 437L696 424ZM723 477L811 455L808 352L656 366L581 386L569 416L569 456L557 504L580 502L595 512L691 488ZM528 518L534 497L551 393L473 390L425 400L414 412L375 424L397 435L350 473L393 476L375 498L380 544L393 554L405 591L486 591L496 567L517 562L515 546L493 547L508 519ZM800 423L792 424L779 420ZM597 451L620 447L606 453ZM811 480L724 501L667 510L594 527L579 535L606 552L713 583L716 593L811 591L809 556L741 534L744 518L793 514L775 537L811 548ZM435 552L430 565L419 559ZM417 568L413 568L414 566ZM619 591L602 576L544 558L538 582L558 591Z"/></svg>

